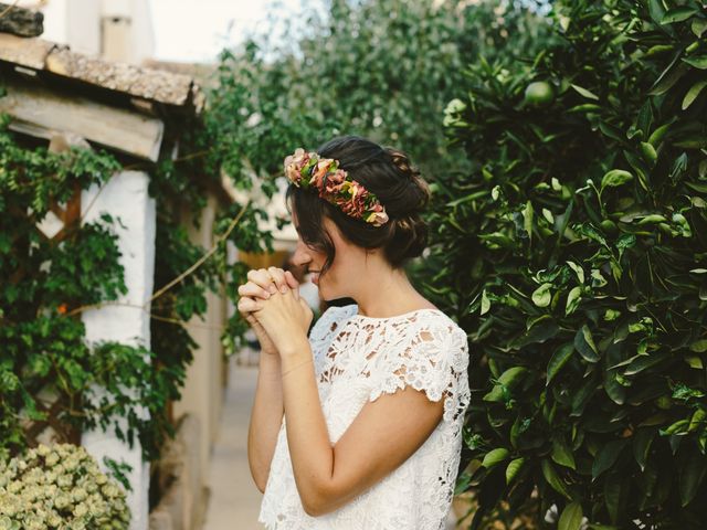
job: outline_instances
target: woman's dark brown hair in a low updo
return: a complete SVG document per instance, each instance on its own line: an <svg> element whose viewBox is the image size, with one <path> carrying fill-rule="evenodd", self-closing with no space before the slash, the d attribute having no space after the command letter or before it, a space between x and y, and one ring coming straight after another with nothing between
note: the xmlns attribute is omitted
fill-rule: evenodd
<svg viewBox="0 0 707 530"><path fill-rule="evenodd" d="M383 248L386 259L393 267L401 267L422 253L428 227L420 214L430 199L430 189L404 152L366 138L344 136L326 142L317 153L338 160L341 169L378 197L390 218L382 226L373 226L346 215L317 194L291 184L287 199L297 218L302 240L327 256L323 272L331 266L335 257L334 243L324 229L324 216L334 221L344 237L355 245Z"/></svg>

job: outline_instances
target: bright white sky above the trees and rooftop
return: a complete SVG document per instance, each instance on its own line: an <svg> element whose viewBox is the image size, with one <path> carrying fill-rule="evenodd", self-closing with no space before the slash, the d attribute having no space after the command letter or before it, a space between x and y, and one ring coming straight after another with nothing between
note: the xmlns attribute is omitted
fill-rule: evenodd
<svg viewBox="0 0 707 530"><path fill-rule="evenodd" d="M268 28L270 12L286 21L303 4L303 0L149 1L155 59L183 62L214 61L226 45Z"/></svg>

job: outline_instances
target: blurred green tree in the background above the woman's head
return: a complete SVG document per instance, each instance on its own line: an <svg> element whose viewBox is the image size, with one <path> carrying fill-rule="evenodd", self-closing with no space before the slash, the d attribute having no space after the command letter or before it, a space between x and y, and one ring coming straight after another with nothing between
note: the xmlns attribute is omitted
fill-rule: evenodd
<svg viewBox="0 0 707 530"><path fill-rule="evenodd" d="M224 51L209 121L223 168L277 176L295 147L344 134L399 146L429 174L466 165L450 155L440 117L476 57L546 45L548 26L528 6L333 0L293 17L284 45L256 36Z"/></svg>

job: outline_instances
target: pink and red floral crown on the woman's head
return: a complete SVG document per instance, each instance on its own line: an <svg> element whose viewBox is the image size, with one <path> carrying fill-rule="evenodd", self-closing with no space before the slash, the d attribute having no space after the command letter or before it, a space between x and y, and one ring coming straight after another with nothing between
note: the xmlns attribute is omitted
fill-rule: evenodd
<svg viewBox="0 0 707 530"><path fill-rule="evenodd" d="M320 158L316 152L297 149L285 158L285 176L297 188L313 190L346 215L373 226L388 222L386 209L363 184L339 168L339 161Z"/></svg>

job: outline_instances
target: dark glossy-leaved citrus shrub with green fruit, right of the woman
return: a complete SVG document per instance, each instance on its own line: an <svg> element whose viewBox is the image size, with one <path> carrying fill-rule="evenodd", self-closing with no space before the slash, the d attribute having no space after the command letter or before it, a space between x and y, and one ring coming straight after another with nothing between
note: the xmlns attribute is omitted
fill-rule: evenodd
<svg viewBox="0 0 707 530"><path fill-rule="evenodd" d="M472 342L460 489L474 526L535 489L560 528L706 528L707 9L551 18L556 44L472 65L445 116L474 165L434 184L428 259Z"/></svg>

